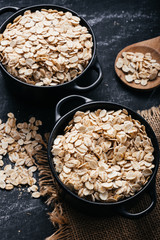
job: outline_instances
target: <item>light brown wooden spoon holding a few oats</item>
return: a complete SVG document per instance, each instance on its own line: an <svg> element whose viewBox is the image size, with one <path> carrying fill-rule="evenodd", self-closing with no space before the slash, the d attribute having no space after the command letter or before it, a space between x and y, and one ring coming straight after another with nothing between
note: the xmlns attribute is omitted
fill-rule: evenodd
<svg viewBox="0 0 160 240"><path fill-rule="evenodd" d="M158 76L156 79L154 79L152 81L149 80L146 86L142 86L141 84L136 84L135 82L130 82L130 83L127 82L125 79L125 73L121 69L116 67L118 58L122 57L122 52L141 52L143 54L149 52L149 53L151 53L152 59L155 59L156 62L160 64L160 36L125 47L118 53L116 60L115 60L115 66L114 66L118 77L126 85L128 85L132 88L141 89L141 90L149 90L149 89L158 87L160 85L160 77L158 77Z"/></svg>

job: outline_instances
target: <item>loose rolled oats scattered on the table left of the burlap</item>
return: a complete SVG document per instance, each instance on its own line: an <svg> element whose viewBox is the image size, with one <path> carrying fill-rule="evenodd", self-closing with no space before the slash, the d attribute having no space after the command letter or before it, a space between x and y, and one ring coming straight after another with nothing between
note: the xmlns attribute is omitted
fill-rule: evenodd
<svg viewBox="0 0 160 240"><path fill-rule="evenodd" d="M32 197L40 197L33 176L37 170L34 156L44 144L42 136L37 133L40 125L42 122L35 117L31 117L28 123L16 124L13 113L8 113L6 123L0 120L0 189L28 185ZM6 154L11 164L5 165L3 157Z"/></svg>

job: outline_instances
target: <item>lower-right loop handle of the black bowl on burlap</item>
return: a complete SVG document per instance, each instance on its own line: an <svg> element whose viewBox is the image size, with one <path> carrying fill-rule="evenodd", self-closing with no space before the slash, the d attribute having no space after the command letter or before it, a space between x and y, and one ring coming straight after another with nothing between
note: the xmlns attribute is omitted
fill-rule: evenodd
<svg viewBox="0 0 160 240"><path fill-rule="evenodd" d="M142 212L138 212L138 213L130 213L125 209L125 206L121 206L118 210L118 212L127 218L139 218L142 217L144 215L146 215L147 213L149 213L150 211L153 210L153 208L156 205L156 201L157 201L157 195L156 195L156 185L155 183L149 188L149 190L147 191L147 193L149 194L150 198L151 198L151 204Z"/></svg>

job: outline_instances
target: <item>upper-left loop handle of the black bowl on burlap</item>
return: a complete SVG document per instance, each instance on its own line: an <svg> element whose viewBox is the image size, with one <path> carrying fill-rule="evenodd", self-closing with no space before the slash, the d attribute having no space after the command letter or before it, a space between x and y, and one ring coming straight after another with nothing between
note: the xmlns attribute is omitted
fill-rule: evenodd
<svg viewBox="0 0 160 240"><path fill-rule="evenodd" d="M77 100L78 99L82 100L83 103L87 103L87 102L92 101L90 98L86 98L86 97L81 96L81 95L70 95L70 96L64 97L56 105L56 108L55 108L55 121L57 121L59 118L61 118L63 116L63 114L61 114L62 105L66 104L70 100L76 101L76 99ZM80 104L77 103L77 105L79 106Z"/></svg>

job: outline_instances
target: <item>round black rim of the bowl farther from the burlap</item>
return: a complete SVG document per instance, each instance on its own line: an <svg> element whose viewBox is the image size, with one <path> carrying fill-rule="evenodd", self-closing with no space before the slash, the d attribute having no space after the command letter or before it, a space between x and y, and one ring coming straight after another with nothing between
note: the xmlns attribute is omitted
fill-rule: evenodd
<svg viewBox="0 0 160 240"><path fill-rule="evenodd" d="M77 12L73 11L72 9L69 9L69 8L66 8L66 7L63 7L63 6L60 6L60 5L55 5L55 4L36 4L36 5L31 5L31 6L27 6L27 7L23 7L23 8L20 8L18 9L15 13L13 13L10 17L8 17L3 23L2 25L0 26L0 33L2 34L5 29L6 29L6 26L8 23L10 22L13 22L13 20L19 16L20 14L24 13L25 11L27 10L39 10L39 8L46 8L46 9L53 9L55 8L55 10L58 10L58 11L64 11L64 12L71 12L72 14L74 14L74 16L76 17L79 17L80 18L80 23L81 21L83 22L82 26L85 24L86 25L86 28L89 30L89 33L92 35L92 41L93 41L93 47L92 47L92 57L91 59L89 60L89 63L88 65L86 66L86 68L83 70L83 72L78 75L76 78L72 79L71 81L69 82L65 82L65 83L62 83L62 84L59 84L59 85L55 85L55 86L37 86L37 85L33 85L33 84L30 84L30 83L26 83L26 82L23 82L22 80L14 77L11 73L9 73L7 71L7 69L5 68L5 66L2 64L2 62L0 61L0 67L3 69L3 71L9 75L11 78L13 78L16 82L22 84L22 85L25 85L27 87L33 87L33 88L37 88L37 89L51 89L51 88L59 88L59 87L65 87L67 86L68 84L71 84L71 83L75 83L76 81L78 81L85 73L86 71L92 66L92 64L94 63L95 61L95 58L96 58L96 51L97 51L97 42L96 42L96 37L95 37L95 34L93 32L93 29L91 28L90 24L83 18L81 17ZM12 20L11 20L12 19ZM84 25L84 26L85 26ZM2 31L2 29L4 28L4 30Z"/></svg>

